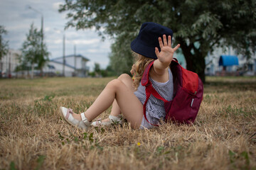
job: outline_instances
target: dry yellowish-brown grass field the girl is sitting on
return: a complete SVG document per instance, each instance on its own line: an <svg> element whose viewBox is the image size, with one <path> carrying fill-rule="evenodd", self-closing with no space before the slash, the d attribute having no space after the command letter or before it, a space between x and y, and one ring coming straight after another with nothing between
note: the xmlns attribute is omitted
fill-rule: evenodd
<svg viewBox="0 0 256 170"><path fill-rule="evenodd" d="M0 169L256 170L256 77L207 77L193 125L85 131L60 118L60 106L85 111L110 80L0 79Z"/></svg>

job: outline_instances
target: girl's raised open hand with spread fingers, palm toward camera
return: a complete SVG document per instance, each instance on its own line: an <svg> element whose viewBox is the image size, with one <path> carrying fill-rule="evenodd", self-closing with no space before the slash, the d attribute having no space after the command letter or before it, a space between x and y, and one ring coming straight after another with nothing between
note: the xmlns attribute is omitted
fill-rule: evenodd
<svg viewBox="0 0 256 170"><path fill-rule="evenodd" d="M161 37L159 37L159 46L161 48L161 52L159 52L159 49L156 47L156 57L159 59L159 62L161 62L164 65L169 65L171 63L171 60L173 59L174 52L180 47L180 45L176 45L176 47L171 47L171 35L168 36L168 42L166 40L166 35L163 35L163 41L161 40Z"/></svg>

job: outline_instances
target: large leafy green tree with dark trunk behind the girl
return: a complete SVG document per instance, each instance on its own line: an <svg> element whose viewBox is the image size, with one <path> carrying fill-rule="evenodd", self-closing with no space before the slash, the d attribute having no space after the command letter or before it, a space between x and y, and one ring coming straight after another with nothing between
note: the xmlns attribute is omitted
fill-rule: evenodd
<svg viewBox="0 0 256 170"><path fill-rule="evenodd" d="M181 44L187 69L197 72L203 82L205 57L215 47L231 45L248 57L256 47L255 0L65 0L59 11L69 11L67 26L95 27L103 38L105 34L114 38L111 62L119 57L132 61L128 46L142 23L167 26L174 31L174 45Z"/></svg>

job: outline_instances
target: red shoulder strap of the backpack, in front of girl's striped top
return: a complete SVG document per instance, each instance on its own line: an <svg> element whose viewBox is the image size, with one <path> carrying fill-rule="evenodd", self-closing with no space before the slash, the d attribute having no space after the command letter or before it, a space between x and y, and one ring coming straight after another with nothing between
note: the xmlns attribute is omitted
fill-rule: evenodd
<svg viewBox="0 0 256 170"><path fill-rule="evenodd" d="M144 118L146 119L146 121L148 123L149 120L146 118L146 103L149 100L149 97L151 96L151 94L155 97L158 98L161 101L164 101L164 103L168 102L166 99L164 99L162 96L160 96L157 91L154 89L154 87L151 84L151 81L149 81L149 70L152 67L152 65L154 64L154 61L150 62L149 65L146 67L146 69L144 70L144 73L142 75L142 86L145 86L145 91L146 91L146 101L144 102L143 105L143 114L144 114ZM154 125L152 123L150 123L151 125ZM159 125L154 125L154 126L159 126Z"/></svg>

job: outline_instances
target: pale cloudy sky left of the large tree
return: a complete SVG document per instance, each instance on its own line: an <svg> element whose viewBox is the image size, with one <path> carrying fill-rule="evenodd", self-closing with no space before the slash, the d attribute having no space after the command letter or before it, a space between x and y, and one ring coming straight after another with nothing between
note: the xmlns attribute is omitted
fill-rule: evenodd
<svg viewBox="0 0 256 170"><path fill-rule="evenodd" d="M64 1L61 0L0 0L0 25L7 30L4 40L9 41L9 48L18 50L26 40L26 34L33 23L41 30L41 14L43 14L44 42L50 52L50 59L63 56L63 35L65 33L65 55L73 55L74 47L77 55L87 57L90 62L87 66L93 69L95 62L105 69L109 64L108 55L112 41L97 35L91 30L75 30L68 28L66 13L59 13L58 8ZM31 6L36 11L29 8Z"/></svg>

